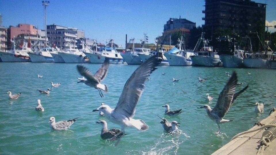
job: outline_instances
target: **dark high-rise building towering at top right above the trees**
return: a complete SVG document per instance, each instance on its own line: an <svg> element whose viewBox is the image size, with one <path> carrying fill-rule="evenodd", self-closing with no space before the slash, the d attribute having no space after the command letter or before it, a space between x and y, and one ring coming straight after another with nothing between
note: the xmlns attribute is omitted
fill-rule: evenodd
<svg viewBox="0 0 276 155"><path fill-rule="evenodd" d="M247 35L265 25L266 4L251 0L205 0L204 29L230 29ZM263 26L262 26L263 25Z"/></svg>

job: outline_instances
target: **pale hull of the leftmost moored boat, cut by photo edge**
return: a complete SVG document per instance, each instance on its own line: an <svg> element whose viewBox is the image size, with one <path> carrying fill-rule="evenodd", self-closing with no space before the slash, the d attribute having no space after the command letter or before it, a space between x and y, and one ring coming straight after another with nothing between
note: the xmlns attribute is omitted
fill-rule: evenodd
<svg viewBox="0 0 276 155"><path fill-rule="evenodd" d="M31 62L30 57L15 56L8 52L0 52L0 59L2 62Z"/></svg>

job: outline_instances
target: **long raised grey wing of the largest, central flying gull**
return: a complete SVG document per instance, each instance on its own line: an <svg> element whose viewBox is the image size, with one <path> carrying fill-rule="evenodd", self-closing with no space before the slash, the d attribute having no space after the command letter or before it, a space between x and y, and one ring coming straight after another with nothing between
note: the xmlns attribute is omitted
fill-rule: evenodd
<svg viewBox="0 0 276 155"><path fill-rule="evenodd" d="M124 89L113 113L120 113L133 117L135 107L142 95L147 77L154 71L162 59L152 56L142 63L131 75L124 85Z"/></svg>

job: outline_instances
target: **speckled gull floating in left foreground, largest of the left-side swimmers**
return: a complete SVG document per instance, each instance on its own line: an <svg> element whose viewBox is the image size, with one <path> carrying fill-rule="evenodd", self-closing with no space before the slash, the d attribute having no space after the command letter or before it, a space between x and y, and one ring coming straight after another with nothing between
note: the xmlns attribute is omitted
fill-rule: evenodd
<svg viewBox="0 0 276 155"><path fill-rule="evenodd" d="M56 131L62 131L62 130L67 130L75 121L75 119L70 119L68 121L58 121L55 122L55 117L50 117L49 123L52 129Z"/></svg>

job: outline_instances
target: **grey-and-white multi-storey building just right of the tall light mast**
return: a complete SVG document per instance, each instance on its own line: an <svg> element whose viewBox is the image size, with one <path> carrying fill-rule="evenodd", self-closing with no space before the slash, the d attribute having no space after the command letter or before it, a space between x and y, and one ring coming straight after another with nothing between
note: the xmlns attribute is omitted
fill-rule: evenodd
<svg viewBox="0 0 276 155"><path fill-rule="evenodd" d="M84 33L83 33L84 34ZM55 44L61 49L77 48L77 28L60 25L47 25L47 38L50 44Z"/></svg>

